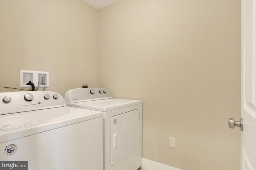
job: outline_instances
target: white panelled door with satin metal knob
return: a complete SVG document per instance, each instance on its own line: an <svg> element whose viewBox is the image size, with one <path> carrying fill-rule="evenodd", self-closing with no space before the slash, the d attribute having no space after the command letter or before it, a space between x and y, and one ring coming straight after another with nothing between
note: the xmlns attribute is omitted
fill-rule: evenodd
<svg viewBox="0 0 256 170"><path fill-rule="evenodd" d="M256 0L242 0L241 170L256 170Z"/></svg>

